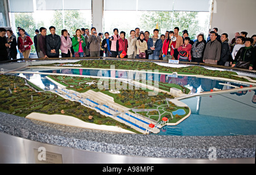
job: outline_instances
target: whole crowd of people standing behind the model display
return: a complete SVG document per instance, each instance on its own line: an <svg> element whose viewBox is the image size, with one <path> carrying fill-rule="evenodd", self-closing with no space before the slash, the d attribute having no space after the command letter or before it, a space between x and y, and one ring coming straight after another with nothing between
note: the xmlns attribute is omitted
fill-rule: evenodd
<svg viewBox="0 0 256 175"><path fill-rule="evenodd" d="M61 31L61 36L56 35L56 28L51 26L47 35L47 29L41 27L35 31L34 42L23 28L18 28L18 39L11 29L0 28L1 61L16 59L18 50L24 58L28 58L31 45L35 44L38 58L61 57L114 57L114 58L142 58L142 59L176 59L184 62L204 62L212 65L240 67L243 69L256 69L256 35L247 37L247 32L237 32L229 43L228 34L218 35L218 28L209 32L207 40L204 34L197 35L196 40L191 40L188 31L182 31L179 35L179 27L174 31L166 31L159 36L159 29L150 32L140 31L135 28L119 33L113 29L113 35L109 32L97 33L96 28L76 29L76 33L70 36L67 29ZM6 37L7 33L7 37ZM103 39L103 37L105 38ZM104 55L105 53L105 55Z"/></svg>

